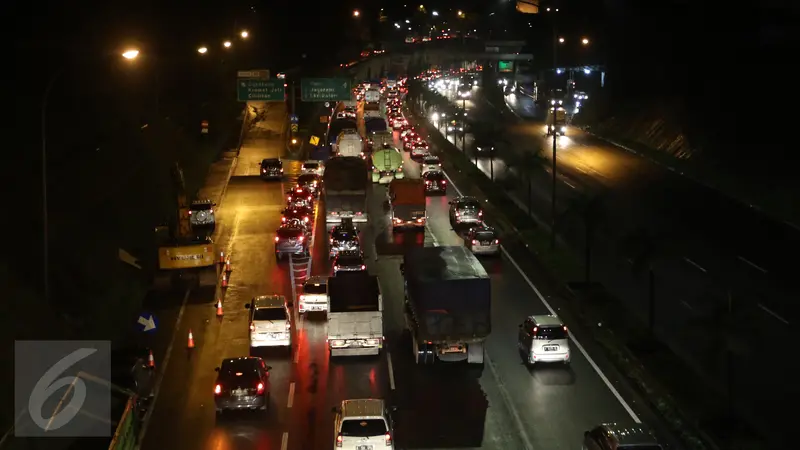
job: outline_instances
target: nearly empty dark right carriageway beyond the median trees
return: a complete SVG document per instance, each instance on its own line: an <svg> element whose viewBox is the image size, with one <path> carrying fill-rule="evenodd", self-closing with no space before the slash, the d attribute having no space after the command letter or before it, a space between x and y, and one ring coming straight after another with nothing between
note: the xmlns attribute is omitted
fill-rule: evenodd
<svg viewBox="0 0 800 450"><path fill-rule="evenodd" d="M454 91L441 92L461 105L461 100L454 98ZM505 103L493 105L478 90L473 101L466 105L469 115L494 120L505 127L502 138L507 143L498 144L505 148L501 148L500 159L492 164L494 175L499 178L506 170L504 153L543 147L544 156L550 158L552 148L552 138L544 137L544 124L537 122L538 114L529 97L510 95ZM508 120L510 114L500 113L504 108L512 110L516 117ZM461 147L461 139L455 143ZM709 337L707 330L715 328L714 322L721 320L728 287L734 298L733 322L746 323L749 330L749 338L737 339L735 348L735 389L741 393L739 401L745 407L769 411L777 406L773 398L796 395L792 389L791 364L783 362L781 357L796 334L798 306L789 301L791 297L781 285L781 281L790 278L782 263L784 259L780 258L795 248L793 232L679 174L574 127L569 127L567 135L557 143L559 214L564 215L581 197L599 195L607 215L596 239L593 267L596 279L646 320L647 277L634 273L632 255L624 250L622 242L637 229L648 230L652 241L661 247L661 254L653 264L660 335L673 348L689 355L706 374L720 376L724 367L719 361L720 336ZM469 139L467 149L468 152L471 149ZM488 160L479 160L478 165L484 173L490 173ZM531 195L534 214L546 223L550 222L550 173L550 168L545 167L534 174ZM517 189L514 196L523 209L527 208L528 195L523 189ZM567 217L562 222L567 241L582 248L582 221L569 214L564 217ZM775 345L762 348L746 342L751 339ZM772 383L781 392L777 397L748 395L758 390L761 371L753 363L762 358L777 361ZM787 423L778 416L770 420Z"/></svg>

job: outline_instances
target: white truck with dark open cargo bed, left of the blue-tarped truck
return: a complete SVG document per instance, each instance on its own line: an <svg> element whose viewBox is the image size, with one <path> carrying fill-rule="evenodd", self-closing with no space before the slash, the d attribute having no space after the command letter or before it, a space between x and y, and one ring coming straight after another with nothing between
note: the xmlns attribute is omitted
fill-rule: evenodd
<svg viewBox="0 0 800 450"><path fill-rule="evenodd" d="M378 277L367 272L339 272L330 277L330 356L378 355L383 340L383 297Z"/></svg>

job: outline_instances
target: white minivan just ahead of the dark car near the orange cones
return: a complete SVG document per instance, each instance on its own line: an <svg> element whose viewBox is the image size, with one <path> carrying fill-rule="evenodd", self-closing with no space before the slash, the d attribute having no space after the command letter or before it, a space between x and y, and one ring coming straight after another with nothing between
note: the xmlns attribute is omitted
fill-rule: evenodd
<svg viewBox="0 0 800 450"><path fill-rule="evenodd" d="M250 348L292 346L292 314L282 295L259 295L244 305L250 310Z"/></svg>

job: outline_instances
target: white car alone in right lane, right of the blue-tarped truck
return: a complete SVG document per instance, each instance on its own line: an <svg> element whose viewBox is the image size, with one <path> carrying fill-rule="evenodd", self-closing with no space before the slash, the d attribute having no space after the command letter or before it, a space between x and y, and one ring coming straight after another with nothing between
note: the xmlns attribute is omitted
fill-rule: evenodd
<svg viewBox="0 0 800 450"><path fill-rule="evenodd" d="M570 362L569 332L561 319L552 314L528 316L519 324L517 346L528 366Z"/></svg>

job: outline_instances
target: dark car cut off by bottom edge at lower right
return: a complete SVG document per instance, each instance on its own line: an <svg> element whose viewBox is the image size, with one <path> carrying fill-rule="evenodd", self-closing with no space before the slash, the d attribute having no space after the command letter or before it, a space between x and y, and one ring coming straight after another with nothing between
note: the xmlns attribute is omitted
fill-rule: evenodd
<svg viewBox="0 0 800 450"><path fill-rule="evenodd" d="M656 434L640 424L604 423L583 433L583 450L663 450Z"/></svg>

